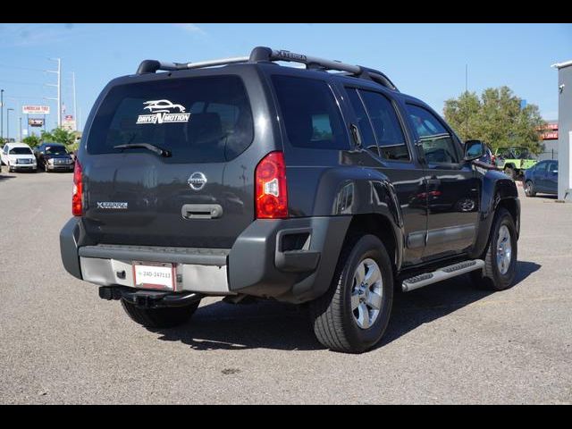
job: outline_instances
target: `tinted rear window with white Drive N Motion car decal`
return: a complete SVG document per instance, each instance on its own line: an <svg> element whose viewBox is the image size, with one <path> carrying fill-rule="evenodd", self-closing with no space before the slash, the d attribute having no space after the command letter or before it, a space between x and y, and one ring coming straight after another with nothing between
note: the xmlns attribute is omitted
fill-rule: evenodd
<svg viewBox="0 0 572 429"><path fill-rule="evenodd" d="M172 153L165 162L224 162L253 138L252 112L238 76L152 80L109 91L89 131L88 153L127 153L116 146L148 143Z"/></svg>

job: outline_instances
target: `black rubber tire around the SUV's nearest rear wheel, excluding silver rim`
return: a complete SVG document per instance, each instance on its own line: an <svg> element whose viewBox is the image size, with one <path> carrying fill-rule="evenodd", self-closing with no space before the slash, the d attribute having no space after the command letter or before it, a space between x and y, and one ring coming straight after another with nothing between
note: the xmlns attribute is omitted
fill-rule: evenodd
<svg viewBox="0 0 572 429"><path fill-rule="evenodd" d="M366 258L373 259L379 267L382 303L374 323L362 329L352 311L351 295L354 273ZM315 336L328 349L347 353L366 351L382 339L392 303L393 269L382 241L374 235L351 237L341 251L330 289L310 303Z"/></svg>

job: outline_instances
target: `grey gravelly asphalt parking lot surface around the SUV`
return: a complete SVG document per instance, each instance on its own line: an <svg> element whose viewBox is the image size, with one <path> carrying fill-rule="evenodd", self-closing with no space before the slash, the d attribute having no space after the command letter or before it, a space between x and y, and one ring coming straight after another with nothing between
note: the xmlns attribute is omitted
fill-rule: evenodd
<svg viewBox="0 0 572 429"><path fill-rule="evenodd" d="M521 201L515 287L400 293L381 346L355 356L276 303L206 299L189 324L147 331L63 269L71 173L3 167L0 403L569 404L572 204Z"/></svg>

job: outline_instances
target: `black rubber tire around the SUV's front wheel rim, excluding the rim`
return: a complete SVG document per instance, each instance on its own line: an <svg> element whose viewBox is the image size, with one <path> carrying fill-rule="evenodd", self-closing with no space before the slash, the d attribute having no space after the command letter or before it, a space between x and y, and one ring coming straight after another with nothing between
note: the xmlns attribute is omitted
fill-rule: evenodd
<svg viewBox="0 0 572 429"><path fill-rule="evenodd" d="M499 231L503 225L509 229L512 251L509 268L507 273L504 274L501 273L496 260L497 241L499 239ZM495 214L492 223L489 244L487 245L484 255L484 268L482 271L478 270L471 273L471 278L476 286L487 290L507 290L512 286L517 273L517 243L517 228L515 222L509 211L501 207Z"/></svg>

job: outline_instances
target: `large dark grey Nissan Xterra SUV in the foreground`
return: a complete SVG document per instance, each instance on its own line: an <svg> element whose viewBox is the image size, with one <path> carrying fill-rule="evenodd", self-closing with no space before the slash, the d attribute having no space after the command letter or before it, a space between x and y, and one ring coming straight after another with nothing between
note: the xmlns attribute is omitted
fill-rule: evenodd
<svg viewBox="0 0 572 429"><path fill-rule="evenodd" d="M514 181L381 71L259 46L147 60L97 100L63 266L139 324L183 324L206 296L307 303L325 347L362 352L394 286L514 282Z"/></svg>

